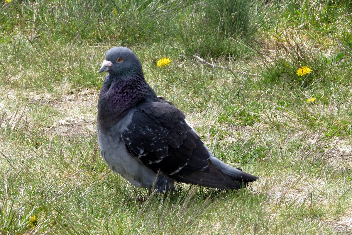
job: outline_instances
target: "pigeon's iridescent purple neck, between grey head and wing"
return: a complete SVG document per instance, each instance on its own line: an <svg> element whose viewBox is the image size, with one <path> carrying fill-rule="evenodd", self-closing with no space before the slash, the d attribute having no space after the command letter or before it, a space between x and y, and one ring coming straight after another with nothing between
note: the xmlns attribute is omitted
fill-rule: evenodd
<svg viewBox="0 0 352 235"><path fill-rule="evenodd" d="M111 75L108 75L111 76ZM143 77L105 77L98 101L99 128L108 130L145 99L157 99Z"/></svg>

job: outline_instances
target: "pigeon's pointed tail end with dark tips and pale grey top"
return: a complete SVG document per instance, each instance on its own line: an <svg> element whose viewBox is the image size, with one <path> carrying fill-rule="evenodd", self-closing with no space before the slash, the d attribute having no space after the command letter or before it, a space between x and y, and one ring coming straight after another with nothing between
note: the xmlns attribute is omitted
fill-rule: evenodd
<svg viewBox="0 0 352 235"><path fill-rule="evenodd" d="M193 171L190 174L183 174L174 178L182 182L216 189L246 188L249 182L258 179L258 177L252 174L226 165L213 156L210 157L207 169Z"/></svg>

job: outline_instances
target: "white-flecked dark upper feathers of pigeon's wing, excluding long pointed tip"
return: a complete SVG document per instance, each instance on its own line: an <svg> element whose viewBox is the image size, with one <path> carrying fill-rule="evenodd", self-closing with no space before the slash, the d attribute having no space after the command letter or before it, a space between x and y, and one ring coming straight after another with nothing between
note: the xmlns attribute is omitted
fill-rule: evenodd
<svg viewBox="0 0 352 235"><path fill-rule="evenodd" d="M210 155L196 150L199 136L184 118L180 109L167 102L142 102L136 106L121 139L133 156L155 172L176 174L184 167L202 170Z"/></svg>

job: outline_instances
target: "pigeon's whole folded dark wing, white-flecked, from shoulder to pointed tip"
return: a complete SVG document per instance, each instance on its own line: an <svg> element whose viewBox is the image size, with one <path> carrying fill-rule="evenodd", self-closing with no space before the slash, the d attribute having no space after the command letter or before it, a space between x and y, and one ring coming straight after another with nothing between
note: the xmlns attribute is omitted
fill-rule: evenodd
<svg viewBox="0 0 352 235"><path fill-rule="evenodd" d="M122 131L122 141L128 152L153 171L186 183L238 189L256 179L234 178L219 170L182 111L168 102L137 104L131 122Z"/></svg>

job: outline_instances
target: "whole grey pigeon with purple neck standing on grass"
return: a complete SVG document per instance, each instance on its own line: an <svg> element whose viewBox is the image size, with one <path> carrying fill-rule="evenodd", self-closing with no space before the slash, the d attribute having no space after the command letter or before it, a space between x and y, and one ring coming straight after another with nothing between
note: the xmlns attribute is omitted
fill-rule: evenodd
<svg viewBox="0 0 352 235"><path fill-rule="evenodd" d="M158 193L174 190L175 181L229 190L258 179L209 151L184 113L146 82L133 51L112 47L101 72L108 75L99 94L98 143L114 173Z"/></svg>

